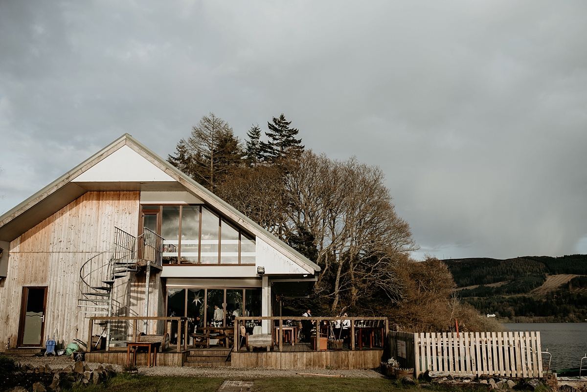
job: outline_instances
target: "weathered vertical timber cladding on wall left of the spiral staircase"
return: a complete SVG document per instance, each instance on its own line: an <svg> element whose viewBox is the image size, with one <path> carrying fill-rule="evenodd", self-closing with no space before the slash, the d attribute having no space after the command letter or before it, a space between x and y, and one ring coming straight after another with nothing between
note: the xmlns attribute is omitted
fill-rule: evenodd
<svg viewBox="0 0 587 392"><path fill-rule="evenodd" d="M77 307L80 268L112 246L114 227L137 235L139 197L140 192L87 192L11 242L0 289L0 350L8 339L16 347L23 286L48 286L45 335L57 330L58 344L87 337Z"/></svg>

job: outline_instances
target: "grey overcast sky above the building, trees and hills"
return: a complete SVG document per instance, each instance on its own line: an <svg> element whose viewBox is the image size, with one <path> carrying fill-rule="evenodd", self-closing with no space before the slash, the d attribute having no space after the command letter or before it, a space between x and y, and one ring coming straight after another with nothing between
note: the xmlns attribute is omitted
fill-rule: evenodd
<svg viewBox="0 0 587 392"><path fill-rule="evenodd" d="M379 165L415 256L587 253L585 1L0 2L0 212L210 111Z"/></svg>

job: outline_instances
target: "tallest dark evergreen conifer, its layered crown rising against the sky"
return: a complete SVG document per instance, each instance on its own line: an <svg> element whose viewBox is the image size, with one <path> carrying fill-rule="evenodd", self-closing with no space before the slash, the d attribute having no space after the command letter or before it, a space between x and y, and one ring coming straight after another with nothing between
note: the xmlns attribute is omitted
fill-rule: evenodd
<svg viewBox="0 0 587 392"><path fill-rule="evenodd" d="M299 157L303 153L302 139L296 139L298 130L290 128L291 121L285 120L281 113L279 118L273 117L273 123L267 121L269 132L265 132L269 137L268 143L261 142L261 153L267 161L278 161Z"/></svg>

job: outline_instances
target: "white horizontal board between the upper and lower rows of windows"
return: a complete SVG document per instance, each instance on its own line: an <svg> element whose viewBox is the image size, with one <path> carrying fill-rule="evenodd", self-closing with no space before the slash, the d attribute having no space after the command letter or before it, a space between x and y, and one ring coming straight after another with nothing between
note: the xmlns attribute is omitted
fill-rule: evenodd
<svg viewBox="0 0 587 392"><path fill-rule="evenodd" d="M254 265L170 265L161 278L258 278Z"/></svg>

